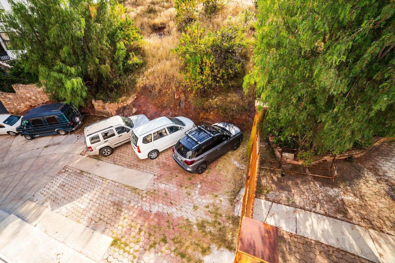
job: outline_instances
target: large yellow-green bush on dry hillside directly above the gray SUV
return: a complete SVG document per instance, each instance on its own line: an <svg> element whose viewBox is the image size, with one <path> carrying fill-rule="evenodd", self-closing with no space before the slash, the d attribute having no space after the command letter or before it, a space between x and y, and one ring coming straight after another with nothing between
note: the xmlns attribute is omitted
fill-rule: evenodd
<svg viewBox="0 0 395 263"><path fill-rule="evenodd" d="M186 27L175 52L185 64L185 83L194 93L231 88L244 72L243 49L248 45L244 30L228 24L216 32Z"/></svg>

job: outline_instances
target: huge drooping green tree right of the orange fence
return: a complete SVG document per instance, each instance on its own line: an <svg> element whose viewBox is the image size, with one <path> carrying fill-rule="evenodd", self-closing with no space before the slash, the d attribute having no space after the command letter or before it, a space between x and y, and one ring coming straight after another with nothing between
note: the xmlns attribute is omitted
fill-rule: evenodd
<svg viewBox="0 0 395 263"><path fill-rule="evenodd" d="M395 135L394 0L258 0L254 70L278 141L318 153Z"/></svg>

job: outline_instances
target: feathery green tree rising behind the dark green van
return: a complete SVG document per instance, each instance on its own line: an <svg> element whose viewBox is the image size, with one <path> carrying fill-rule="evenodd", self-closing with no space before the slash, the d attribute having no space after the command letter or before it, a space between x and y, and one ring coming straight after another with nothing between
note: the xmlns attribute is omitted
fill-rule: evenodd
<svg viewBox="0 0 395 263"><path fill-rule="evenodd" d="M142 36L113 0L9 0L4 29L25 70L47 92L83 105L88 95L117 92L125 73L138 67Z"/></svg>

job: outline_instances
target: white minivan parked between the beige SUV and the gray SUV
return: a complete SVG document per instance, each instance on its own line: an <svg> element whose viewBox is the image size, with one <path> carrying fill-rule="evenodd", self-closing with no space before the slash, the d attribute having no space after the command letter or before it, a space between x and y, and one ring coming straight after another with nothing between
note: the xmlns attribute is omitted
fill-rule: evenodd
<svg viewBox="0 0 395 263"><path fill-rule="evenodd" d="M134 128L130 141L140 159L158 157L159 152L175 145L193 128L194 122L185 117L160 117Z"/></svg>

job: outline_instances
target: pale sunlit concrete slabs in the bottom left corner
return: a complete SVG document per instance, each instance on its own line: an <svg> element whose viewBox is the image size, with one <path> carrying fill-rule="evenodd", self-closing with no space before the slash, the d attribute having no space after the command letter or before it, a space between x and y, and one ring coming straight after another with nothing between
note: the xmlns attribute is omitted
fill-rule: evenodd
<svg viewBox="0 0 395 263"><path fill-rule="evenodd" d="M30 200L0 210L0 253L11 262L99 262L112 240Z"/></svg>

